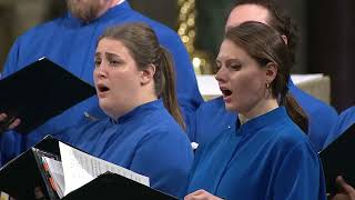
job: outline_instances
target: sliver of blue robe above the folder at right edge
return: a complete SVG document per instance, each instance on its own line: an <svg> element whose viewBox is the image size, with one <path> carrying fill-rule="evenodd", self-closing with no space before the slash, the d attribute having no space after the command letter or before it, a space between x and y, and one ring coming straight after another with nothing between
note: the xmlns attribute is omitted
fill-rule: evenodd
<svg viewBox="0 0 355 200"><path fill-rule="evenodd" d="M351 126L355 123L355 106L344 110L336 124L333 127L331 134L326 139L325 147L332 143L337 137L344 133Z"/></svg>

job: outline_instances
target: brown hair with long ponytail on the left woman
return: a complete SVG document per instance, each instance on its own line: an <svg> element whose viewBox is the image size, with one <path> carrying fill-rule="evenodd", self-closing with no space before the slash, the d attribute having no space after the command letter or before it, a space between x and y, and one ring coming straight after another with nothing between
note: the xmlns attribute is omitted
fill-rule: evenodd
<svg viewBox="0 0 355 200"><path fill-rule="evenodd" d="M99 41L103 38L121 41L129 49L140 70L144 70L149 64L155 66L155 93L158 98L163 99L168 111L185 129L176 99L172 58L170 52L159 44L154 30L144 23L125 23L108 28Z"/></svg>

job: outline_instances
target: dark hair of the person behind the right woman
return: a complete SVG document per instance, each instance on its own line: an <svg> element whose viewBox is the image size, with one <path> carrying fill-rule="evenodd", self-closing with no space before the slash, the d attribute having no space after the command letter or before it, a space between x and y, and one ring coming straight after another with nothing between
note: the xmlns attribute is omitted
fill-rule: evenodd
<svg viewBox="0 0 355 200"><path fill-rule="evenodd" d="M291 56L291 62L296 62L296 48L297 48L297 26L280 7L277 7L274 0L236 0L231 7L230 12L239 6L243 4L257 4L265 8L268 11L268 26L276 29L281 34L287 38L287 48Z"/></svg>

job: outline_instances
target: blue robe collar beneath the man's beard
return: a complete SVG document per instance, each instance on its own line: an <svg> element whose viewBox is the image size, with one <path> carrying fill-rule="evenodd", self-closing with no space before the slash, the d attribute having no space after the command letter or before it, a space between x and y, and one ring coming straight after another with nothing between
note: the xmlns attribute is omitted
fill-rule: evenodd
<svg viewBox="0 0 355 200"><path fill-rule="evenodd" d="M82 21L81 19L75 18L70 12L67 12L67 19L70 21L70 23L72 26L83 27L83 26L87 26L87 24L98 23L100 21L106 21L106 20L109 20L109 19L111 19L113 17L122 16L125 12L131 11L131 10L132 10L132 8L131 8L130 3L128 1L123 1L120 4L116 4L116 6L112 7L112 8L110 8L100 18L94 19L94 20L92 20L90 22Z"/></svg>

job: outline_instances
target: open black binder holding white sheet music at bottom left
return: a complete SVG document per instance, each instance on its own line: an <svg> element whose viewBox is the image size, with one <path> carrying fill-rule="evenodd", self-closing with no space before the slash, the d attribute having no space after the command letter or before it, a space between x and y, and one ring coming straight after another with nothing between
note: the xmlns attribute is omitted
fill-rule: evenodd
<svg viewBox="0 0 355 200"><path fill-rule="evenodd" d="M41 188L45 199L60 199L49 181L45 167L40 156L61 160L59 140L48 136L32 149L23 152L0 169L0 191L18 200L34 199L34 189ZM92 181L71 191L62 199L175 199L161 191L128 179L116 173L106 172Z"/></svg>

